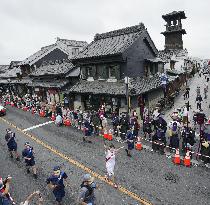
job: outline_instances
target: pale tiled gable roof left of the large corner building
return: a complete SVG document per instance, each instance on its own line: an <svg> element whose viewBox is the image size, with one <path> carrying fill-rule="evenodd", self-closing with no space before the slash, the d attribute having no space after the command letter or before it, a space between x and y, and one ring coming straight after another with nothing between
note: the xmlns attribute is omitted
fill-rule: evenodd
<svg viewBox="0 0 210 205"><path fill-rule="evenodd" d="M37 51L36 53L32 54L31 56L29 56L28 58L20 62L19 65L27 65L27 64L32 65L56 48L62 50L67 55L70 55L72 53L70 47L85 47L87 45L88 43L85 41L76 41L76 40L67 40L67 39L57 38L57 41L55 44L42 47L41 50Z"/></svg>

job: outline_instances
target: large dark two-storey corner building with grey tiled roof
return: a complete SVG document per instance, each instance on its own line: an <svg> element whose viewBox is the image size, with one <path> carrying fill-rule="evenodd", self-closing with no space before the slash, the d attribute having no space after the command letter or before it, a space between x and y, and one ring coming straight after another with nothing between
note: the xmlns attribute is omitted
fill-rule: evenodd
<svg viewBox="0 0 210 205"><path fill-rule="evenodd" d="M125 77L130 78L129 95L136 96L130 97L130 107L138 107L139 95L158 88L156 74L163 72L164 62L157 54L143 23L96 34L94 41L72 60L81 69L80 82L69 90L75 97L74 107L97 109L106 103L110 110L126 108Z"/></svg>

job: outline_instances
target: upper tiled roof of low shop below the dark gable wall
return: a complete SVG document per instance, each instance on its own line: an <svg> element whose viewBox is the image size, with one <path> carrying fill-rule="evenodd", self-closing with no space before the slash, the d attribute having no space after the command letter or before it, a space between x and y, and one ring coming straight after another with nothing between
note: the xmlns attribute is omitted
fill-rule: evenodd
<svg viewBox="0 0 210 205"><path fill-rule="evenodd" d="M55 61L48 62L45 65L40 66L34 72L32 72L31 76L43 76L43 75L61 75L66 74L70 70L72 70L74 65L70 61Z"/></svg>

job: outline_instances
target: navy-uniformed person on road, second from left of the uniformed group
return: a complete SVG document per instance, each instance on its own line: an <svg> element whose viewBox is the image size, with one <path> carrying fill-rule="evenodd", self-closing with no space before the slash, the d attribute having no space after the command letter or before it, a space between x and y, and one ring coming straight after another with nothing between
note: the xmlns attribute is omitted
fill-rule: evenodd
<svg viewBox="0 0 210 205"><path fill-rule="evenodd" d="M33 170L33 176L35 179L37 179L37 171L35 167L33 147L30 146L29 142L25 143L25 149L22 151L22 156L25 159L27 173L28 174L30 173L30 167L31 167Z"/></svg>

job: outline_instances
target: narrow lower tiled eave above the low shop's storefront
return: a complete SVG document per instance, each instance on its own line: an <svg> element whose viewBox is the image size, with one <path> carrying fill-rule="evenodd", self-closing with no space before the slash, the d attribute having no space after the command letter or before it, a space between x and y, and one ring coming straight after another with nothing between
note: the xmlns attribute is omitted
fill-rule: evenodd
<svg viewBox="0 0 210 205"><path fill-rule="evenodd" d="M29 87L43 87L43 88L62 88L68 84L68 80L33 80L28 84Z"/></svg>

